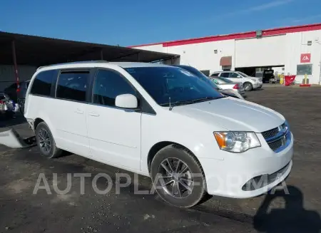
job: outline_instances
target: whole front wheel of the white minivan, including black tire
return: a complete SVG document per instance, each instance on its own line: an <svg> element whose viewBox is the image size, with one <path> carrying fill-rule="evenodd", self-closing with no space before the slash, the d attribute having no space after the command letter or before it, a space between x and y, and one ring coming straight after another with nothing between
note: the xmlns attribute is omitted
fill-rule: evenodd
<svg viewBox="0 0 321 233"><path fill-rule="evenodd" d="M174 171L170 177L163 167L163 165L168 165L168 161L172 168L171 171ZM176 165L178 165L178 170L176 170ZM180 175L178 175L179 172L181 172ZM162 178L165 176L167 178ZM158 195L165 202L176 207L192 207L203 200L206 193L205 175L200 162L188 150L177 145L168 145L156 153L151 162L151 179ZM190 181L187 182L187 180ZM166 183L168 185L165 185Z"/></svg>

